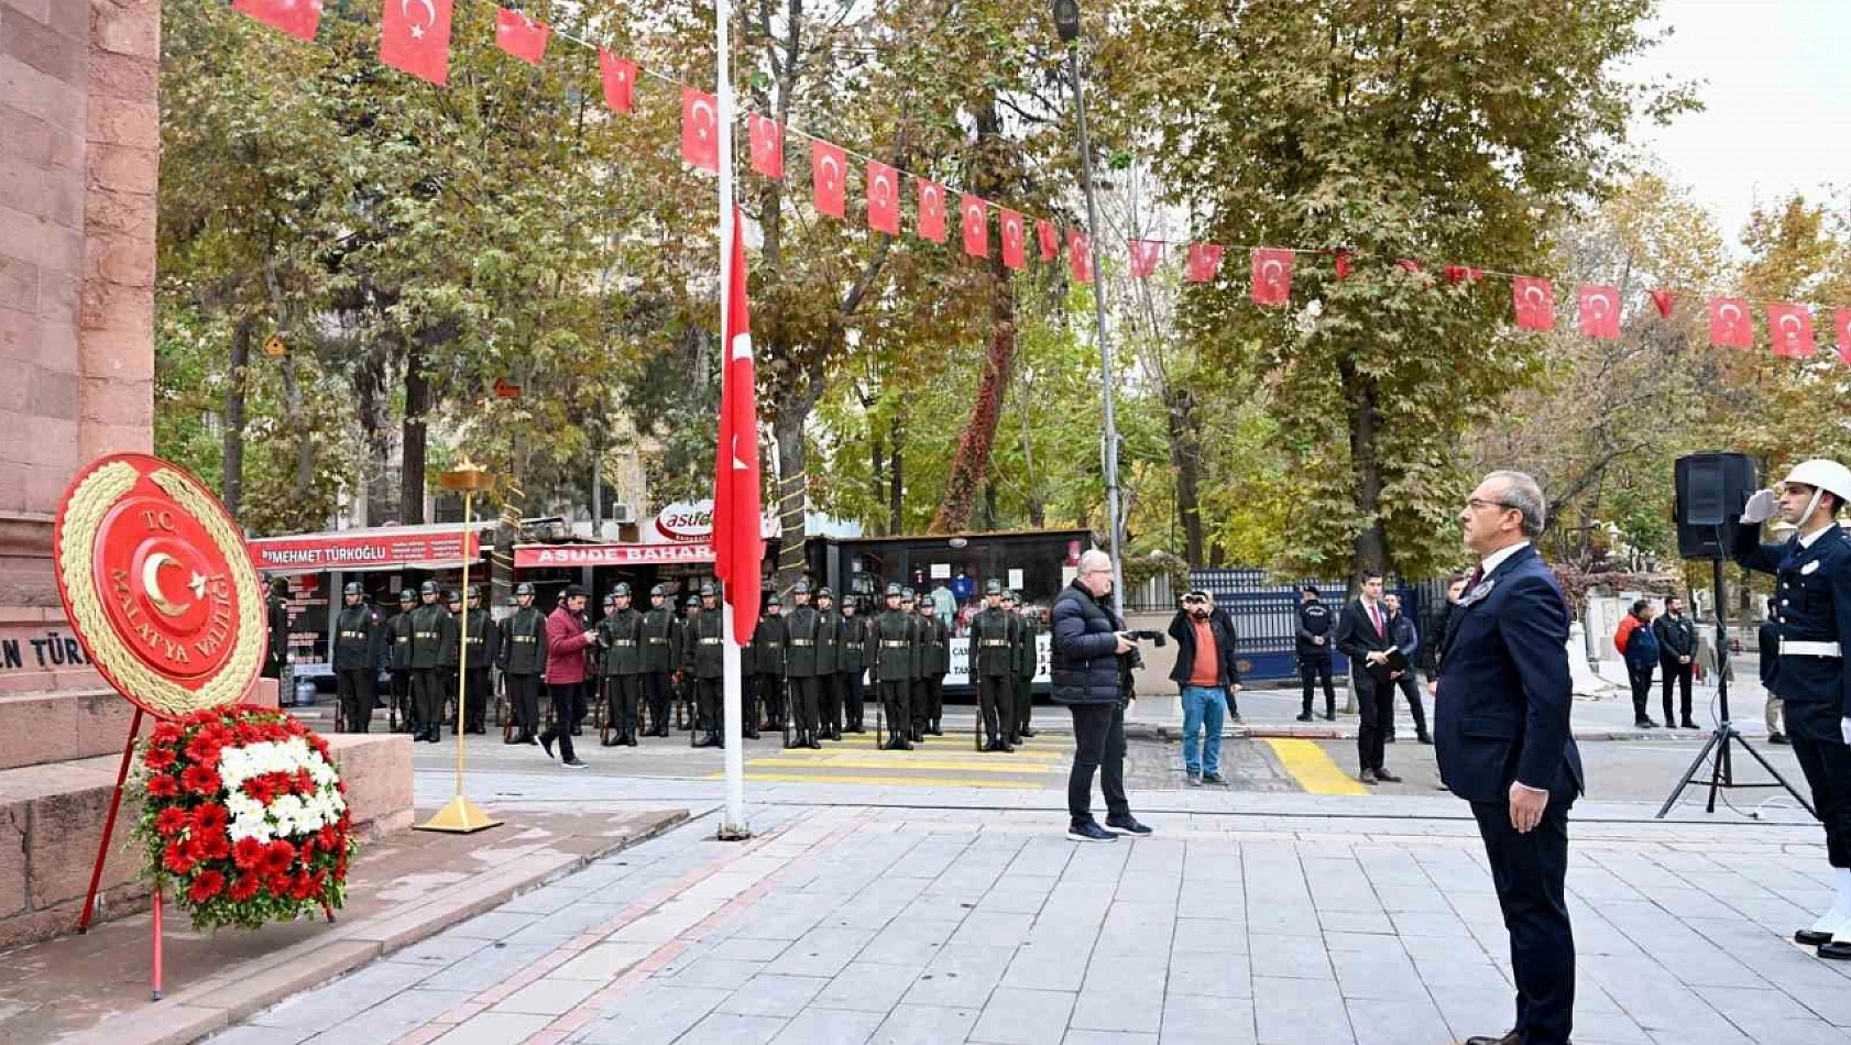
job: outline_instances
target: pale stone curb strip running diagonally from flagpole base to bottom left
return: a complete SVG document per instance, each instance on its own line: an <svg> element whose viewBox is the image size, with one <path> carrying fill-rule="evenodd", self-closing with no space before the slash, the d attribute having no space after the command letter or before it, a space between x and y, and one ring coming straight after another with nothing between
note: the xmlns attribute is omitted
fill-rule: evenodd
<svg viewBox="0 0 1851 1045"><path fill-rule="evenodd" d="M611 838L611 845L605 849L583 854L537 853L511 866L483 871L472 879L492 875L494 880L485 884L468 880L459 884L459 890L431 897L409 910L341 925L317 940L305 940L263 958L231 965L198 984L168 993L161 1002L150 1002L146 1008L124 1012L87 1030L68 1034L59 1039L59 1045L187 1045L198 1041L291 995L424 941L452 925L581 871L613 853L659 838L690 819L689 810L663 810L655 823L637 834ZM520 864L529 866L522 867ZM515 875L509 877L509 871Z"/></svg>

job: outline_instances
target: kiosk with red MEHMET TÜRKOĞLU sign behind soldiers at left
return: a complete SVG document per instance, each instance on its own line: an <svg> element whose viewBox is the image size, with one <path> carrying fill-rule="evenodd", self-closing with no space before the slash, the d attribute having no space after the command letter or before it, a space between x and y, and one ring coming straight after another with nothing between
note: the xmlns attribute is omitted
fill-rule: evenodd
<svg viewBox="0 0 1851 1045"><path fill-rule="evenodd" d="M298 684L333 684L331 636L341 614L341 590L359 581L387 620L398 616L398 592L437 581L446 592L463 583L487 586L485 551L494 520L474 523L383 525L337 529L291 536L257 536L246 542L257 572L289 581L289 664ZM283 694L292 699L294 694Z"/></svg>

